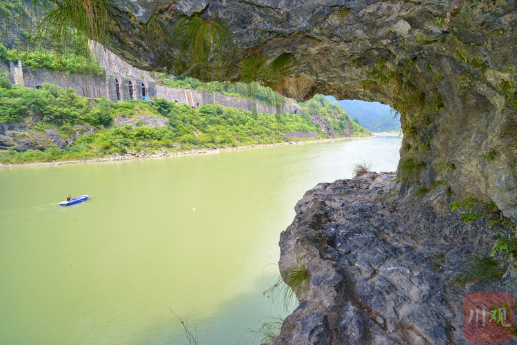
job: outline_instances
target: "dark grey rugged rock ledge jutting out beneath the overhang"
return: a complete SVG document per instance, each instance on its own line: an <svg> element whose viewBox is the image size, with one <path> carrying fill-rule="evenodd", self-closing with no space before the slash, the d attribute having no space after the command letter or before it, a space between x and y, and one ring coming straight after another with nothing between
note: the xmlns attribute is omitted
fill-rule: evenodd
<svg viewBox="0 0 517 345"><path fill-rule="evenodd" d="M281 234L283 275L305 266L299 306L270 344L468 344L462 334L465 293L455 283L472 255L485 255L494 233L467 224L447 198L408 206L393 173L321 183L296 205ZM483 288L516 293L515 271ZM288 279L286 279L288 281Z"/></svg>

